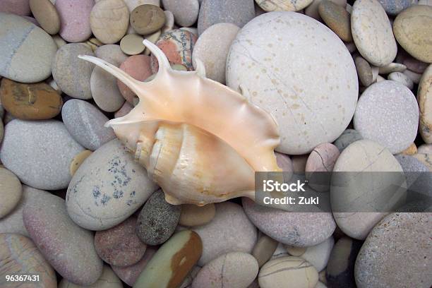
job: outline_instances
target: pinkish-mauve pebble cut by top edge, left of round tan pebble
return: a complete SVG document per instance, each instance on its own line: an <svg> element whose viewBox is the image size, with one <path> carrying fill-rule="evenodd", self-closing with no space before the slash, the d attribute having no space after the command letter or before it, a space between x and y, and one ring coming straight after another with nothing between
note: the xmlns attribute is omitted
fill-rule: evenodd
<svg viewBox="0 0 432 288"><path fill-rule="evenodd" d="M56 10L60 16L60 36L67 42L84 42L92 35L90 11L93 0L56 0Z"/></svg>

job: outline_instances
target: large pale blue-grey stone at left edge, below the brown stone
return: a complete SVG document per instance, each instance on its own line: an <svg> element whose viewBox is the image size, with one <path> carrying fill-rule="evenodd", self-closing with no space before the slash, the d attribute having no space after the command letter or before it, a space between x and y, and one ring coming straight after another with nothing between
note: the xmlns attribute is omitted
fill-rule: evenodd
<svg viewBox="0 0 432 288"><path fill-rule="evenodd" d="M0 158L23 184L53 190L68 186L69 164L82 150L61 121L15 119L6 125Z"/></svg>

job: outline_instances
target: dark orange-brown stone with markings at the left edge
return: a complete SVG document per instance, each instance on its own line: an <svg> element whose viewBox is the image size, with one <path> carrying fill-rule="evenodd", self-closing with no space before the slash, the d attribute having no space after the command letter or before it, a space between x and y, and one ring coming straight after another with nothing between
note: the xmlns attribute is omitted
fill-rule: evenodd
<svg viewBox="0 0 432 288"><path fill-rule="evenodd" d="M18 83L8 78L1 80L1 103L7 112L23 120L42 120L55 117L63 100L46 83Z"/></svg>

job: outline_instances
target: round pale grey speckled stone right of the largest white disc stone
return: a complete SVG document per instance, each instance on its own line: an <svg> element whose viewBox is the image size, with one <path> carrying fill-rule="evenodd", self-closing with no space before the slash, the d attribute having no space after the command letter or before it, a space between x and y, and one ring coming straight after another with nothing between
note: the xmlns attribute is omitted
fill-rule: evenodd
<svg viewBox="0 0 432 288"><path fill-rule="evenodd" d="M419 107L404 85L386 80L374 83L359 99L354 128L396 154L414 142L419 126Z"/></svg>

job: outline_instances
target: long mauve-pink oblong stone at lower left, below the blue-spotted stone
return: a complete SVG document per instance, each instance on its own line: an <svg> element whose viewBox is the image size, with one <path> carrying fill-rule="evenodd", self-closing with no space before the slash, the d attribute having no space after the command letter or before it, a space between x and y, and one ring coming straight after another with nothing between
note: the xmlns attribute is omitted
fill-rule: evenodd
<svg viewBox="0 0 432 288"><path fill-rule="evenodd" d="M102 260L95 251L93 234L72 222L62 198L46 195L25 205L23 222L44 258L61 276L80 285L99 279Z"/></svg>

